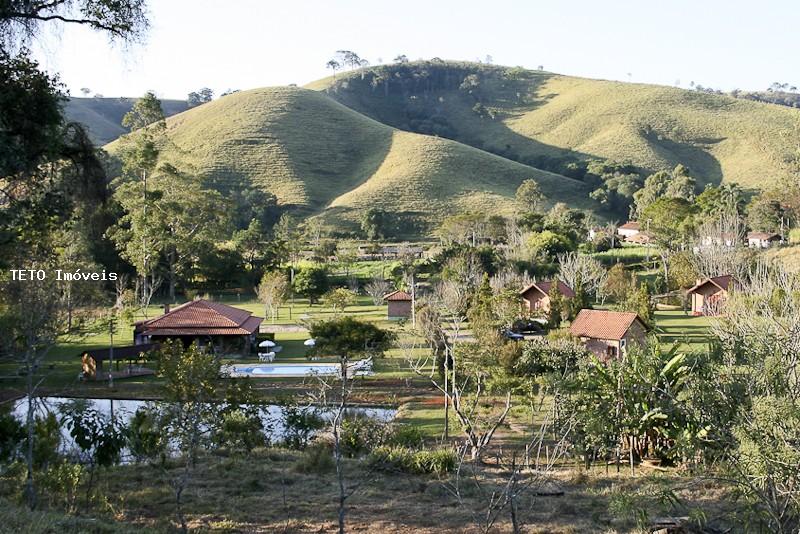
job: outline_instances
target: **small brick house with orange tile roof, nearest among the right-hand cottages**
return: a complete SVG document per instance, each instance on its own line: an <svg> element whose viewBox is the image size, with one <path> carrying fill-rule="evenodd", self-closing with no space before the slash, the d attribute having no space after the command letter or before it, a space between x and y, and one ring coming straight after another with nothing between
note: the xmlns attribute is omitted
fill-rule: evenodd
<svg viewBox="0 0 800 534"><path fill-rule="evenodd" d="M624 355L631 343L644 344L648 327L635 313L581 310L569 327L586 348L601 360Z"/></svg>

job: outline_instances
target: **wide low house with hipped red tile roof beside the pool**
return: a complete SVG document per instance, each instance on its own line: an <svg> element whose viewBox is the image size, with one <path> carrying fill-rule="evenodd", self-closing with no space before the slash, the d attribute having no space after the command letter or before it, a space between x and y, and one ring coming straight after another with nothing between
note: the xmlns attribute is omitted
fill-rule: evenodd
<svg viewBox="0 0 800 534"><path fill-rule="evenodd" d="M221 352L249 352L264 319L219 302L193 300L134 324L134 344L180 339L211 344Z"/></svg>

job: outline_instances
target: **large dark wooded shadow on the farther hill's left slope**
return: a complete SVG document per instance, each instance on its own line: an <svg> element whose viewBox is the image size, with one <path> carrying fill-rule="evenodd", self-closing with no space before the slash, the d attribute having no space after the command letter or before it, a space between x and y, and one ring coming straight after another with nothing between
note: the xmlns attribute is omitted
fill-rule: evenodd
<svg viewBox="0 0 800 534"><path fill-rule="evenodd" d="M394 75L387 77L386 71ZM464 87L475 72L484 77L476 87ZM394 128L458 141L540 170L559 173L557 167L566 162L593 158L541 143L506 126L503 119L513 119L554 98L541 89L557 75L520 71L518 77L508 78L504 72L505 68L490 65L417 62L367 69L363 76L340 79L326 92Z"/></svg>

